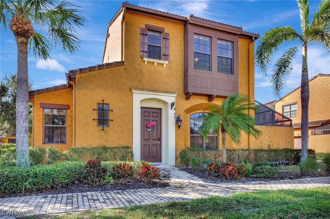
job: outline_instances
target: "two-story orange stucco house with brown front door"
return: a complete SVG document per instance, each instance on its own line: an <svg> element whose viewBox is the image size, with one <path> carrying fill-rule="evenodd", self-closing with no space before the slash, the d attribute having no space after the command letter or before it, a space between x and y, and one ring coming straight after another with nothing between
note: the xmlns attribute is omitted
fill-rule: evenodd
<svg viewBox="0 0 330 219"><path fill-rule="evenodd" d="M68 71L66 85L30 91L32 145L129 144L135 160L171 165L185 145L217 149L219 137L203 141L198 133L203 110L232 93L254 101L258 37L242 27L123 3L109 23L102 63ZM150 121L155 126L147 128ZM292 127L258 128L260 139L243 134L243 144L235 145L227 136L226 146L293 145Z"/></svg>

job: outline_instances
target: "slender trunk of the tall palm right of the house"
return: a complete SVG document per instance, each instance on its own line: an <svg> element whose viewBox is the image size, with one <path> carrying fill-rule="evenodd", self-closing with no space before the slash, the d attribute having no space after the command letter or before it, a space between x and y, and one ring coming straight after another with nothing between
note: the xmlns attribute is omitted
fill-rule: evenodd
<svg viewBox="0 0 330 219"><path fill-rule="evenodd" d="M308 150L308 106L309 106L309 82L307 66L307 45L303 46L303 65L301 73L301 161L307 158Z"/></svg>

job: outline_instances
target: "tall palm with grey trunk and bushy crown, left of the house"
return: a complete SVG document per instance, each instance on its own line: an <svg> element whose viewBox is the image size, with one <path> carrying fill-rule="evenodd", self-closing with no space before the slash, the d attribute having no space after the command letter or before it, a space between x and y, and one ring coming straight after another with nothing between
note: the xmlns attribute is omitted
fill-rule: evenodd
<svg viewBox="0 0 330 219"><path fill-rule="evenodd" d="M85 18L82 11L69 2L56 0L1 0L0 26L13 32L17 43L17 98L16 98L16 160L17 166L30 166L29 157L29 86L27 55L32 48L35 57L50 58L50 49L60 45L73 54L80 40L76 27ZM35 31L35 27L46 34Z"/></svg>

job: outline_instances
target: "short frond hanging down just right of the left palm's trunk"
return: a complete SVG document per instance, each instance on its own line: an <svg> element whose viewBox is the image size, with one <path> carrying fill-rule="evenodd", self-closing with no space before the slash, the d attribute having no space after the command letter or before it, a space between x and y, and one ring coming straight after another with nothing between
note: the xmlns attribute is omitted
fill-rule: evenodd
<svg viewBox="0 0 330 219"><path fill-rule="evenodd" d="M50 48L51 48L51 44L48 41L48 39L37 33L34 32L34 34L32 35L30 41L29 41L29 50L31 50L31 47L33 49L33 55L35 57L40 57L42 59L48 59L50 58Z"/></svg>

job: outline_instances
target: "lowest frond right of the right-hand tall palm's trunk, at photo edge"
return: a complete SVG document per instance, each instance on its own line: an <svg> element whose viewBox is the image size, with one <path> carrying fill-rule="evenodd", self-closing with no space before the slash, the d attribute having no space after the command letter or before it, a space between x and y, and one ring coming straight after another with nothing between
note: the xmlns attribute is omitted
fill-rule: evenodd
<svg viewBox="0 0 330 219"><path fill-rule="evenodd" d="M330 52L330 22L314 23L311 28L305 32L308 42L322 43L324 49Z"/></svg>

